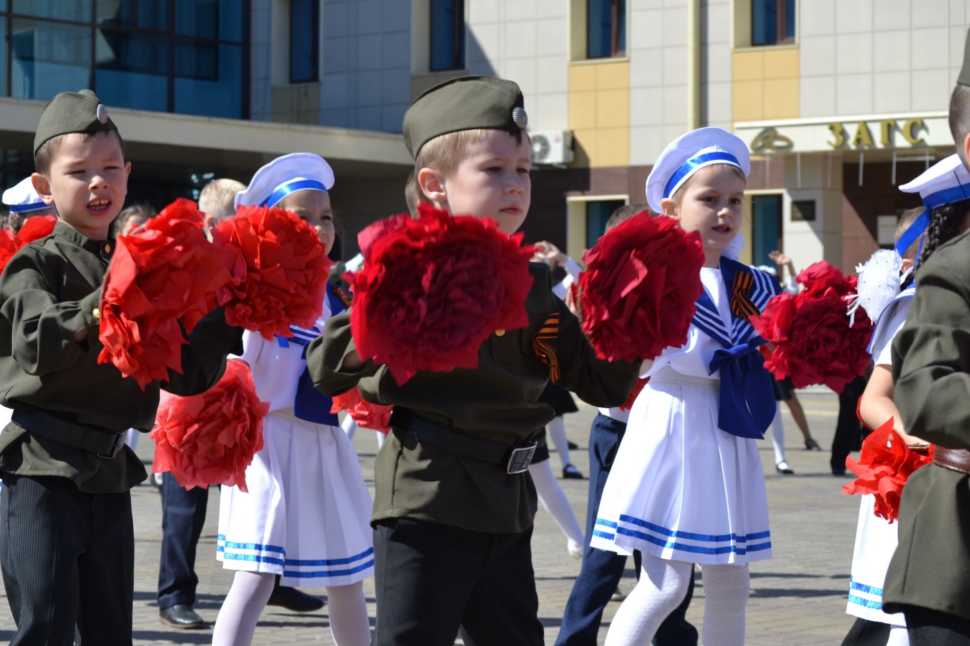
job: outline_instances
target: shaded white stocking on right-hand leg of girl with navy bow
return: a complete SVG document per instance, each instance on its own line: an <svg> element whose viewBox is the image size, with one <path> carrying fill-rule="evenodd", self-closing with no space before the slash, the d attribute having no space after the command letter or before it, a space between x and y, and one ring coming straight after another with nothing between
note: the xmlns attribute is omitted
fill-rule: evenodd
<svg viewBox="0 0 970 646"><path fill-rule="evenodd" d="M700 566L704 577L704 646L744 646L748 566Z"/></svg>

